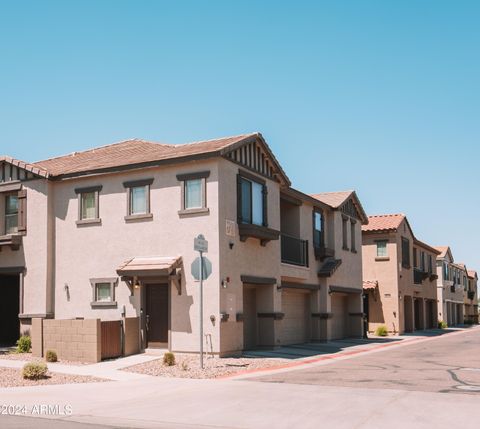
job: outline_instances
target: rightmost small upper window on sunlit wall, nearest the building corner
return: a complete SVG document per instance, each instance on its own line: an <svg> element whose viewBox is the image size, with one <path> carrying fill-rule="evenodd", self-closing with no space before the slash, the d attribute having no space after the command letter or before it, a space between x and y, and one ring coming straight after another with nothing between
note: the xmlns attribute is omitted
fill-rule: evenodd
<svg viewBox="0 0 480 429"><path fill-rule="evenodd" d="M177 174L177 180L179 180L182 185L182 201L179 214L208 212L207 178L209 176L209 171Z"/></svg>

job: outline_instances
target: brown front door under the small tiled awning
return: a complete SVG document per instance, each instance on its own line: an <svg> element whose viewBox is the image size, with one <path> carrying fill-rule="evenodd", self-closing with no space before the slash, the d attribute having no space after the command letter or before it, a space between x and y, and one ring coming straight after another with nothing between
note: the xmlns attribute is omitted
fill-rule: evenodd
<svg viewBox="0 0 480 429"><path fill-rule="evenodd" d="M168 347L168 285L147 286L147 347Z"/></svg>

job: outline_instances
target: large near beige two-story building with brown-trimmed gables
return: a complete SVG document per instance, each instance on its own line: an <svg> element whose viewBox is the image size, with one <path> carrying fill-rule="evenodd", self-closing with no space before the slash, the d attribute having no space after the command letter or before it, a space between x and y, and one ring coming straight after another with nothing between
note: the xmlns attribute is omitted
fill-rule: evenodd
<svg viewBox="0 0 480 429"><path fill-rule="evenodd" d="M122 320L131 351L198 351L199 233L209 352L362 334L367 218L356 194L293 190L258 133L129 140L34 164L3 157L0 196L0 342L32 320L41 332L41 320L84 318ZM60 337L50 325L47 337Z"/></svg>

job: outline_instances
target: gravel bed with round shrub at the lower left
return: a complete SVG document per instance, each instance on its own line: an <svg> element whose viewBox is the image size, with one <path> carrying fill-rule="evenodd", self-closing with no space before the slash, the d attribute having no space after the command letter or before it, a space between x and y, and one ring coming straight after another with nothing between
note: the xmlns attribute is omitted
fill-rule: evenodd
<svg viewBox="0 0 480 429"><path fill-rule="evenodd" d="M108 381L102 378L85 375L69 375L58 372L48 372L46 378L40 380L26 380L22 377L22 370L0 367L0 387L44 386L47 384L96 383Z"/></svg>

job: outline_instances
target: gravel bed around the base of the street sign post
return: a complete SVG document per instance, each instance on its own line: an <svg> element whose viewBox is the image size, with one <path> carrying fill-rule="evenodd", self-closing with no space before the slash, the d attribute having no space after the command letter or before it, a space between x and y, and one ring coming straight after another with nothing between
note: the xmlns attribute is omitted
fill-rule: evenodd
<svg viewBox="0 0 480 429"><path fill-rule="evenodd" d="M123 368L123 371L159 377L217 378L225 375L233 375L245 370L281 366L289 362L288 359L219 358L208 356L204 358L205 368L202 370L200 369L198 355L175 354L175 360L175 365L166 366L163 363L163 357L159 356L159 359Z"/></svg>

